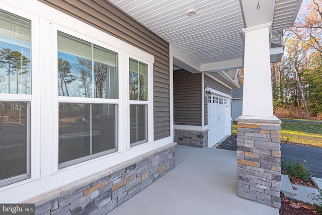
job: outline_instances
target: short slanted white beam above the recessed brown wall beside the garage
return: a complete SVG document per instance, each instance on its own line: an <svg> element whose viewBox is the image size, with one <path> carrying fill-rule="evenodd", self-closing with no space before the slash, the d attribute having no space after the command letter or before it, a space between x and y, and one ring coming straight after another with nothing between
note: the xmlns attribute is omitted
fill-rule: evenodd
<svg viewBox="0 0 322 215"><path fill-rule="evenodd" d="M173 63L190 73L200 73L200 64L194 59L172 46Z"/></svg>

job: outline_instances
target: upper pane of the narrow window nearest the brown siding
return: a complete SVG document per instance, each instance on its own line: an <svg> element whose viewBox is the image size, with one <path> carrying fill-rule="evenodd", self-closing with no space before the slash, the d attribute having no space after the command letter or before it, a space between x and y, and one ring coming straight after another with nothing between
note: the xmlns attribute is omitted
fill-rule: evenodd
<svg viewBox="0 0 322 215"><path fill-rule="evenodd" d="M130 58L130 100L147 101L147 64Z"/></svg>

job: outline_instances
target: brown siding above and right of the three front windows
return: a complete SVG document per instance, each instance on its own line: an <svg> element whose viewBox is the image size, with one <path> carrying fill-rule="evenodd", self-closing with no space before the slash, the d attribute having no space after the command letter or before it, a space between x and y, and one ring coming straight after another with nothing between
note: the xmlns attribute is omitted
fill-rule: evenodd
<svg viewBox="0 0 322 215"><path fill-rule="evenodd" d="M169 43L104 0L38 0L154 55L154 140L170 136Z"/></svg>

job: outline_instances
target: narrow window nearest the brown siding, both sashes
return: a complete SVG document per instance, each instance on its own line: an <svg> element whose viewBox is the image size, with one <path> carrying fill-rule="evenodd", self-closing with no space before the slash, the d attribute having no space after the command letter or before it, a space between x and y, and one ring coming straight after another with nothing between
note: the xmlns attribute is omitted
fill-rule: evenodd
<svg viewBox="0 0 322 215"><path fill-rule="evenodd" d="M130 146L147 141L148 67L146 63L129 59Z"/></svg>

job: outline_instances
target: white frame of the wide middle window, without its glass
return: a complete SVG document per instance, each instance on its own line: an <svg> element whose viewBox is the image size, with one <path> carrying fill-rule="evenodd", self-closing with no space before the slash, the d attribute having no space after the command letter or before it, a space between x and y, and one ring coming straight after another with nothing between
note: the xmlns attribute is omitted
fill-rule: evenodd
<svg viewBox="0 0 322 215"><path fill-rule="evenodd" d="M117 104L118 105L118 109L122 108L122 103L120 102L120 97L121 97L121 94L119 92L119 98L118 99L102 99L102 98L83 98L83 97L65 97L65 96L58 96L58 86L57 86L57 79L58 79L58 65L57 65L57 59L58 59L58 46L57 46L57 42L58 42L58 31L60 32L63 32L63 33L66 33L68 35L71 35L71 36L74 36L74 37L77 37L79 39L82 39L82 40L85 40L89 43L93 43L95 45L98 45L98 46L101 46L103 48L106 48L108 50L111 50L111 51L114 51L116 53L118 53L118 86L122 86L123 83L122 83L122 74L119 70L119 67L120 67L120 64L123 64L123 62L121 60L119 60L120 58L122 58L122 50L120 49L117 49L115 48L114 46L111 46L109 45L108 43L104 43L102 42L103 38L101 38L102 40L98 40L94 37L91 37L91 36L88 36L86 35L87 31L86 30L83 30L83 31L74 31L70 28L67 28L65 26L62 26L60 24L56 24L56 23L52 23L51 24L51 56L52 56L52 62L51 62L51 65L52 65L52 84L53 84L53 87L52 87L52 94L53 94L53 99L52 99L52 124L53 124L53 140L52 140L52 172L51 174L56 174L58 172L61 172L61 171L66 171L67 169L70 169L70 168L75 168L75 167L79 167L81 165L83 165L84 163L87 163L87 162L92 162L93 160L96 160L96 159L101 159L102 157L106 157L106 156L112 156L114 154L117 154L118 153L118 150L116 152L113 152L113 153L110 153L110 154L106 154L106 155L102 155L100 157L97 157L95 158L97 155L93 155L92 159L90 160L87 160L87 161L84 161L84 162L79 162L79 163L75 163L75 164L70 164L66 167L63 167L63 168L58 168L58 164L59 164L59 161L58 161L58 154L59 154L59 141L58 141L58 129L55 129L55 128L58 128L59 127L59 123L58 123L58 116L59 116L59 103L62 103L62 102L70 102L70 103L93 103L93 104ZM92 30L91 32L92 34L91 35L97 35L96 31ZM120 87L119 87L120 89ZM119 113L119 111L118 111ZM119 139L120 139L120 132L119 132L119 129L120 129L120 126L123 126L122 125L122 121L120 121L120 114L118 114L118 122L116 123L116 128L118 130L118 134L117 134L117 142L116 142L116 148L118 148L119 145L121 145L121 142L119 142ZM104 151L105 152L105 151ZM102 154L104 152L101 152ZM99 153L99 154L101 154ZM88 156L86 156L88 157ZM85 157L82 157L82 158L85 158ZM71 161L68 161L69 163L72 163L73 160Z"/></svg>

